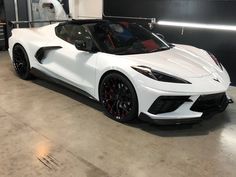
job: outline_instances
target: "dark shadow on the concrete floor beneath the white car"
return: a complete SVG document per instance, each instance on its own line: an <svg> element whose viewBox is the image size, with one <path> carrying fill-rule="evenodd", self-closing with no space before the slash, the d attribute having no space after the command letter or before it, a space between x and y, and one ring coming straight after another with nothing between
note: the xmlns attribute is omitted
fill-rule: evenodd
<svg viewBox="0 0 236 177"><path fill-rule="evenodd" d="M104 112L102 105L82 94L67 89L61 85L42 80L32 80L34 84L53 90L57 93L68 96L84 105L92 107L98 111ZM104 113L105 114L105 113ZM106 115L107 116L107 115ZM225 111L219 114L211 114L203 118L203 121L195 124L176 124L176 125L157 125L148 123L140 119L136 119L132 123L126 123L125 126L133 127L145 131L147 133L161 137L186 137L186 136L203 136L210 132L223 128L230 123L229 112Z"/></svg>

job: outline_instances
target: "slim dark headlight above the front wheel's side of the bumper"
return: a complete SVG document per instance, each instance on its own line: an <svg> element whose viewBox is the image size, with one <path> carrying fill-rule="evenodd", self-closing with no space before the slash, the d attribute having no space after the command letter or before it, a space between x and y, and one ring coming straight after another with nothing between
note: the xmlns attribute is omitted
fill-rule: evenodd
<svg viewBox="0 0 236 177"><path fill-rule="evenodd" d="M132 68L136 71L138 71L139 73L154 79L154 80L158 80L160 82L171 82L171 83L180 83L180 84L191 84L190 82L176 77L176 76L171 76L169 74L160 72L160 71L156 71L151 69L150 67L147 66L132 66Z"/></svg>

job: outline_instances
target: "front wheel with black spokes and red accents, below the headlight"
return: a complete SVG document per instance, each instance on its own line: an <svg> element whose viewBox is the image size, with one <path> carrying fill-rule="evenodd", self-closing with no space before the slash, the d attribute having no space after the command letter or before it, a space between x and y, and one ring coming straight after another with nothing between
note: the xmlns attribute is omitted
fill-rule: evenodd
<svg viewBox="0 0 236 177"><path fill-rule="evenodd" d="M100 84L100 102L108 116L119 122L130 122L138 116L138 99L131 82L122 74L110 73Z"/></svg>

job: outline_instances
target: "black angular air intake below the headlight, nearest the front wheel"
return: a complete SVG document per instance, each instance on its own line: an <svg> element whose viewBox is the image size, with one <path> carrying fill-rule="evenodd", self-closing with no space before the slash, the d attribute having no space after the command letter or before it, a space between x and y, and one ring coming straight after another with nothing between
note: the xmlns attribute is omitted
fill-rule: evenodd
<svg viewBox="0 0 236 177"><path fill-rule="evenodd" d="M154 101L148 112L151 114L172 112L186 101L189 101L189 96L160 96Z"/></svg>

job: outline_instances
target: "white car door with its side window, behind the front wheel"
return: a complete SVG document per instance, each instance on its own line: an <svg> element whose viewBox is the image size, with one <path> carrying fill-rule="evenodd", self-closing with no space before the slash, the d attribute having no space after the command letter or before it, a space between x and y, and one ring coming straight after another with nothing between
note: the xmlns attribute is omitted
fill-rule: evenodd
<svg viewBox="0 0 236 177"><path fill-rule="evenodd" d="M42 61L43 67L56 78L93 96L97 54L78 50L74 46L76 40L92 40L88 30L83 25L64 24L56 27L56 35L53 43L61 48L48 53Z"/></svg>

